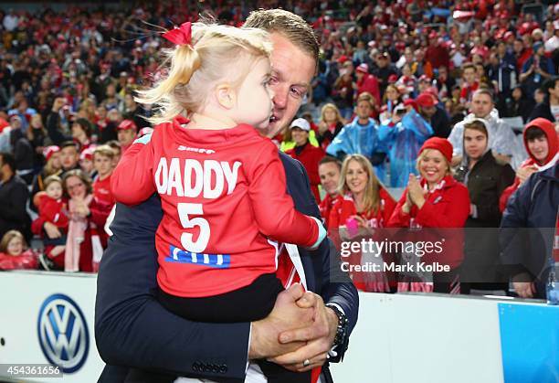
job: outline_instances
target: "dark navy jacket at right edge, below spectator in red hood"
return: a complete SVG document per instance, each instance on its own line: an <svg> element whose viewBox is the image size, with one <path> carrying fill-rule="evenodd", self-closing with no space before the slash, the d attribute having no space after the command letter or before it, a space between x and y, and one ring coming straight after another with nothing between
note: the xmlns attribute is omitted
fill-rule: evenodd
<svg viewBox="0 0 559 383"><path fill-rule="evenodd" d="M559 162L512 194L501 220L502 261L522 298L545 298L559 218Z"/></svg>

